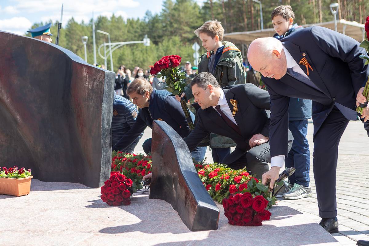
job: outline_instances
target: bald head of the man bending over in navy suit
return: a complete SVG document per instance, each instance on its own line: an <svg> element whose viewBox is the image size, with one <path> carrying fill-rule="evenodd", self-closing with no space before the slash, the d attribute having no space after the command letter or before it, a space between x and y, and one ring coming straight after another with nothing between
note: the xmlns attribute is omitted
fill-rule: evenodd
<svg viewBox="0 0 369 246"><path fill-rule="evenodd" d="M247 59L264 77L280 79L286 74L287 62L282 43L276 38L257 38L251 42Z"/></svg>

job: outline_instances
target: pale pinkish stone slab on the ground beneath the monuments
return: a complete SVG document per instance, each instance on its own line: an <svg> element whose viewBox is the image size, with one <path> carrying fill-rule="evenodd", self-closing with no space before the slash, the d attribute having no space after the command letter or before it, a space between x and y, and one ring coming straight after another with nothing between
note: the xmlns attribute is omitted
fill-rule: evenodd
<svg viewBox="0 0 369 246"><path fill-rule="evenodd" d="M100 189L36 179L29 195L0 195L0 245L340 245L310 214L282 202L256 227L227 224L217 204L218 230L191 232L170 204L148 199L148 192L120 207L99 197Z"/></svg>

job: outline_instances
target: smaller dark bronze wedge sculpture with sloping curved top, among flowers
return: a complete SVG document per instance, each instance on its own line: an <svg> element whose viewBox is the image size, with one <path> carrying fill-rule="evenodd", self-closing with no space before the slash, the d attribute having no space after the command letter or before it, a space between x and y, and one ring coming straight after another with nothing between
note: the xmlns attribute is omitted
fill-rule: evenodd
<svg viewBox="0 0 369 246"><path fill-rule="evenodd" d="M149 198L169 202L191 231L218 229L219 209L201 183L186 143L164 121L154 120L152 130Z"/></svg>

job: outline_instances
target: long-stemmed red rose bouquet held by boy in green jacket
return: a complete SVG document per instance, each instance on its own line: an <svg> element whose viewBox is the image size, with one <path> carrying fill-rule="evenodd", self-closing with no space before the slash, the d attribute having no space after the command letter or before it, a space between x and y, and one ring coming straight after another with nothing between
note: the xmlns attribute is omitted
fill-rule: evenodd
<svg viewBox="0 0 369 246"><path fill-rule="evenodd" d="M181 63L181 57L177 55L163 56L160 60L155 62L154 66L151 68L151 75L156 75L156 77L162 77L163 81L166 83L166 89L173 95L180 95L183 92L186 83L186 73L181 72L178 66ZM194 125L190 116L190 111L187 108L186 100L181 98L181 106L186 116L187 123L191 130L194 129Z"/></svg>

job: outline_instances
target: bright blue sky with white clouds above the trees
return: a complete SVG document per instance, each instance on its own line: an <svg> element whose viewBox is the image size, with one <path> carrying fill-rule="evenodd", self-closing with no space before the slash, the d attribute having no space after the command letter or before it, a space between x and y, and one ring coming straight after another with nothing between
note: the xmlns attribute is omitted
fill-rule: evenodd
<svg viewBox="0 0 369 246"><path fill-rule="evenodd" d="M200 5L204 0L196 0ZM0 30L23 35L35 22L60 20L64 3L63 25L70 18L88 22L113 13L124 18L142 18L147 10L159 13L163 0L0 0Z"/></svg>

